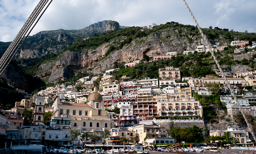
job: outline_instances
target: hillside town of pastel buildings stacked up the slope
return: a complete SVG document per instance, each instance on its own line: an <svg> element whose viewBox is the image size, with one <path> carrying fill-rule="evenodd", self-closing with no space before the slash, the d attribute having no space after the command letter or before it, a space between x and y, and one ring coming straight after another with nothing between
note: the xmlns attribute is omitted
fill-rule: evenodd
<svg viewBox="0 0 256 154"><path fill-rule="evenodd" d="M240 52L245 44L248 41L232 41L231 46L241 46ZM213 45L212 51L227 47L218 45ZM251 47L255 48L255 45ZM209 52L209 49L200 45L195 51L183 51L183 54L189 52ZM150 55L149 61L135 60L124 67L171 59L176 55L177 52ZM219 70L214 70L216 76L195 78L182 76L179 68L166 66L159 68L159 78L129 81L128 76L118 80L111 75L119 69L85 76L74 83L56 84L34 95L17 88L16 91L26 98L15 102L11 109L0 110L0 134L18 145L54 144L55 148L93 149L104 146L123 148L137 143L143 148L154 148L155 145L178 142L170 133L171 124L203 129L207 123L221 123L205 117L207 109L196 97L218 95L222 105L212 108L227 112L230 119L239 114L238 105ZM255 75L256 70L236 74L224 71L242 110L253 118L256 118L256 107L252 105L256 102ZM253 145L254 140L247 129L235 124L226 130L210 130L208 138L221 137L227 132L236 144ZM210 139L212 142L221 141Z"/></svg>

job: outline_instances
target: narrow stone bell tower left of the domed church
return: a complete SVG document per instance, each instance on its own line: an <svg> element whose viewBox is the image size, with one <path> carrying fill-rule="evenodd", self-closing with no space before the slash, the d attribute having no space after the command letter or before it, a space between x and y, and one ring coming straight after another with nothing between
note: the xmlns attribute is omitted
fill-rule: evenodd
<svg viewBox="0 0 256 154"><path fill-rule="evenodd" d="M35 101L34 125L44 124L44 97L37 97Z"/></svg>

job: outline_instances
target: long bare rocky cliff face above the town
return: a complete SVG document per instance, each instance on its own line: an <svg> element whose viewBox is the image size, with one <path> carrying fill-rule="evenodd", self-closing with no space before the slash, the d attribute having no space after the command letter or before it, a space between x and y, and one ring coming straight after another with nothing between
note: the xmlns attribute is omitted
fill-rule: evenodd
<svg viewBox="0 0 256 154"><path fill-rule="evenodd" d="M110 44L115 42L115 40L105 43L97 49L85 49L84 51L69 50L59 54L56 60L41 64L34 72L34 76L39 78L49 76L48 82L56 83L61 79L61 74L68 71L63 69L64 67L74 70L93 68L93 73L96 73L101 70L111 69L114 64L122 63L123 61L127 63L137 58L142 59L143 54L166 54L166 52L171 51L181 53L184 48L193 50L197 45L203 43L201 42L200 36L192 37L192 40L194 40L192 43L189 42L187 37L182 37L180 35L172 35L166 38L168 34L172 33L174 33L174 31L165 30L151 34L148 37L135 39L129 45L123 46L122 49L112 52L103 60L101 60L101 58L104 57ZM122 39L125 40L126 38L123 37ZM61 71L58 69L61 69ZM60 71L61 73L53 73L56 71Z"/></svg>

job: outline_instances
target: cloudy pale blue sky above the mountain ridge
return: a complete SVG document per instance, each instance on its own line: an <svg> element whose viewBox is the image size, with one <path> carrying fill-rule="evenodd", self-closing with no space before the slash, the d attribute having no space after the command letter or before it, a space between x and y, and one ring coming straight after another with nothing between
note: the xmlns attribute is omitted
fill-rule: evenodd
<svg viewBox="0 0 256 154"><path fill-rule="evenodd" d="M12 41L39 0L0 0L0 41ZM256 32L255 0L186 0L202 28ZM53 0L30 35L82 29L103 20L122 26L195 25L183 0Z"/></svg>

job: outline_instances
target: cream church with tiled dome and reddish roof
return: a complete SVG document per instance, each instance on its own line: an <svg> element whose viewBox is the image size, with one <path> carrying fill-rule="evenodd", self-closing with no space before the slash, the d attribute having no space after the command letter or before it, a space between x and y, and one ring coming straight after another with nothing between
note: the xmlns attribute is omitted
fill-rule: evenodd
<svg viewBox="0 0 256 154"><path fill-rule="evenodd" d="M51 124L60 129L110 130L114 126L112 114L104 110L102 96L94 91L88 96L87 104L61 103L56 97L53 103Z"/></svg>

